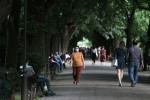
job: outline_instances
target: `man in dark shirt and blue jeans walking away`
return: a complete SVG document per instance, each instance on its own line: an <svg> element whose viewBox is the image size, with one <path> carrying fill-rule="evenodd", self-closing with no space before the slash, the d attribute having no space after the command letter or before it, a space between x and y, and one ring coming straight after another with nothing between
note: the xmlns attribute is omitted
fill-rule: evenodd
<svg viewBox="0 0 150 100"><path fill-rule="evenodd" d="M137 47L138 41L133 41L133 46L128 50L129 62L129 76L131 80L131 87L134 87L138 81L138 70L141 62L141 69L144 68L143 54L140 48Z"/></svg>

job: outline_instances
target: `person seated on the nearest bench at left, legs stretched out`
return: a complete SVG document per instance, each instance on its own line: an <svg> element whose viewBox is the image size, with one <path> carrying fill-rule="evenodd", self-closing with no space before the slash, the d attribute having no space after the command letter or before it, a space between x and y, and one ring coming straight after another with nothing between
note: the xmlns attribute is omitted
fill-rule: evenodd
<svg viewBox="0 0 150 100"><path fill-rule="evenodd" d="M20 69L23 69L23 66L20 66ZM34 79L37 79L37 83L40 84L41 87L41 91L44 95L46 96L50 96L50 95L56 95L55 93L53 93L50 89L50 80L44 76L41 75L36 75L35 71L33 70L33 67L29 65L29 61L26 61L26 74L27 77L34 77ZM44 91L44 86L47 86L48 92Z"/></svg>

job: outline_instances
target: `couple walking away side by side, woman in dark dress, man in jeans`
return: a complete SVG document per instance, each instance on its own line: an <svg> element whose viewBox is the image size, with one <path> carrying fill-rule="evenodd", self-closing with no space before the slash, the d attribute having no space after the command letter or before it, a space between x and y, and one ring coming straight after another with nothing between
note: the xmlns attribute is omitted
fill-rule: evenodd
<svg viewBox="0 0 150 100"><path fill-rule="evenodd" d="M119 86L122 86L123 69L128 64L128 73L131 80L131 87L134 87L138 81L138 70L141 63L141 69L144 68L143 55L140 48L137 47L138 41L133 41L133 46L128 50L125 47L124 41L120 42L114 53L114 58L118 59L117 74Z"/></svg>

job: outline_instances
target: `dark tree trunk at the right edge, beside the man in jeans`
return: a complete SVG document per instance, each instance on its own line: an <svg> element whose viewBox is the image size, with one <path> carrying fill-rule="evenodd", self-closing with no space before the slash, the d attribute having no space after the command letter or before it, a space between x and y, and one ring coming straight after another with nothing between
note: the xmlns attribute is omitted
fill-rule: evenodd
<svg viewBox="0 0 150 100"><path fill-rule="evenodd" d="M147 36L148 36L148 40L147 40L147 42L146 42L146 44L145 44L145 52L144 52L144 69L143 70L147 70L147 65L149 65L150 63L149 63L149 58L150 58L150 56L149 56L149 46L150 46L150 21L149 21L149 26L148 26L148 31L147 31Z"/></svg>

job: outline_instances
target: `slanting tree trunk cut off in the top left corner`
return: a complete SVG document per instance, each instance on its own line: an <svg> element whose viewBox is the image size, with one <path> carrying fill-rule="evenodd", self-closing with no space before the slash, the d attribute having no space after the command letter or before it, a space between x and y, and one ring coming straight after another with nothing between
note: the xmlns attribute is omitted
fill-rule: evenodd
<svg viewBox="0 0 150 100"><path fill-rule="evenodd" d="M10 13L12 0L0 0L0 29L2 22Z"/></svg>

